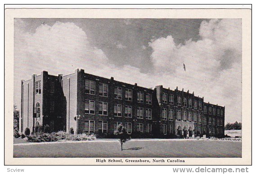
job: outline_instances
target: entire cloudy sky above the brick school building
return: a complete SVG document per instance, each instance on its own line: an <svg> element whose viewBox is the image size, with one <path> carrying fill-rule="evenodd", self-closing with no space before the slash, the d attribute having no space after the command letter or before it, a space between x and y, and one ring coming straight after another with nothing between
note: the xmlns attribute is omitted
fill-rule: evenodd
<svg viewBox="0 0 256 174"><path fill-rule="evenodd" d="M143 87L194 91L225 106L225 122L242 122L241 19L14 20L18 109L21 79L76 68Z"/></svg>

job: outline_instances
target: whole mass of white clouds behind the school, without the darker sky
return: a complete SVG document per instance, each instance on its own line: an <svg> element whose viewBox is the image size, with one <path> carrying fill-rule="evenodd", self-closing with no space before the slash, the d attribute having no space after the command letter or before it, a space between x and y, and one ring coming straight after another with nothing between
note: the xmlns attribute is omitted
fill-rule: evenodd
<svg viewBox="0 0 256 174"><path fill-rule="evenodd" d="M20 91L21 79L29 79L42 70L57 75L82 68L90 74L113 76L143 87L189 89L204 96L205 101L225 105L226 121L241 121L241 26L239 19L204 21L199 29L201 39L190 39L183 45L176 45L171 35L153 38L148 47L153 50L154 70L144 74L132 65L111 64L103 50L94 47L85 31L72 22L42 24L35 32L28 32L26 22L15 19L14 91ZM121 43L116 46L126 48ZM14 102L19 104L19 92L15 93Z"/></svg>

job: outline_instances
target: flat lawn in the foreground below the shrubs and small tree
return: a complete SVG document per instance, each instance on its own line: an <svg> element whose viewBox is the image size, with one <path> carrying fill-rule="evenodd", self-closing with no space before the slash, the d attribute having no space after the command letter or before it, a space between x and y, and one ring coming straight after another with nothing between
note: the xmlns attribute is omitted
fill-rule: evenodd
<svg viewBox="0 0 256 174"><path fill-rule="evenodd" d="M230 141L88 141L13 146L13 157L242 157L242 142Z"/></svg>

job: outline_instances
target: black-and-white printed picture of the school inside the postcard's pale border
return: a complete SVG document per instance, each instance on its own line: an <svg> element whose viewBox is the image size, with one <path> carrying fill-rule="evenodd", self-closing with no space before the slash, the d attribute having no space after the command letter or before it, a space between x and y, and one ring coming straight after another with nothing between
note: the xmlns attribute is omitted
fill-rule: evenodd
<svg viewBox="0 0 256 174"><path fill-rule="evenodd" d="M242 35L242 17L13 18L13 158L241 159Z"/></svg>

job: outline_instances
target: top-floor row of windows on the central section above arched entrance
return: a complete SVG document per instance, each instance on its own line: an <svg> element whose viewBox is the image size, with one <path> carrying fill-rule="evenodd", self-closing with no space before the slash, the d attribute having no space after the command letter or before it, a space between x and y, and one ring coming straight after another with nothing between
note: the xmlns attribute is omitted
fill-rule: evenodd
<svg viewBox="0 0 256 174"><path fill-rule="evenodd" d="M168 103L168 95L167 93L163 92L162 93L162 102L163 103ZM169 103L170 104L174 104L174 95L170 94L169 96ZM183 100L181 102L181 96L177 96L177 105L178 106L184 106L184 107L189 107L189 108L194 108L194 109L200 109L202 110L202 101L197 101L197 100L193 100L193 106L192 106L192 99L187 100L186 97L183 97Z"/></svg>

